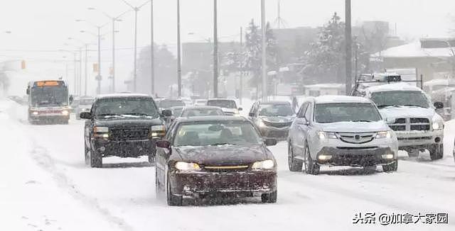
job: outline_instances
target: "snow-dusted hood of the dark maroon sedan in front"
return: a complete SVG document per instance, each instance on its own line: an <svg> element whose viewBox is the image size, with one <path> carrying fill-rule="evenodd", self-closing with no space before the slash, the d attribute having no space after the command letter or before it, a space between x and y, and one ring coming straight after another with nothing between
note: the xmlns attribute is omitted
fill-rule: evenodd
<svg viewBox="0 0 455 231"><path fill-rule="evenodd" d="M262 145L239 147L237 145L219 145L202 147L174 147L184 162L197 164L251 164L267 159L267 152ZM272 159L272 158L270 158Z"/></svg>

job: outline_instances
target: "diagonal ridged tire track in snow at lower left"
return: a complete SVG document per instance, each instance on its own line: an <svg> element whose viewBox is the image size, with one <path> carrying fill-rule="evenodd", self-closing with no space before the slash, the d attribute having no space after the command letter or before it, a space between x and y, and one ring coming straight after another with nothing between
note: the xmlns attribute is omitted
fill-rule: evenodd
<svg viewBox="0 0 455 231"><path fill-rule="evenodd" d="M73 184L73 182L70 179L68 179L65 173L58 169L52 157L50 157L50 155L48 154L48 150L46 150L44 147L38 146L35 141L33 141L32 144L33 150L31 151L31 156L36 161L38 166L42 167L43 169L45 169L45 171L48 171L50 174L52 174L53 179L55 179L60 188L64 188L66 191L68 191L68 193L70 193L71 196L81 201L85 205L94 208L109 222L112 222L113 224L117 225L120 228L120 230L125 231L134 230L134 228L131 225L128 225L124 219L112 215L112 213L110 213L109 210L107 210L106 208L102 208L102 206L100 205L100 203L98 203L96 198L90 198L88 196L85 196L81 191L79 191L76 188L75 184Z"/></svg>

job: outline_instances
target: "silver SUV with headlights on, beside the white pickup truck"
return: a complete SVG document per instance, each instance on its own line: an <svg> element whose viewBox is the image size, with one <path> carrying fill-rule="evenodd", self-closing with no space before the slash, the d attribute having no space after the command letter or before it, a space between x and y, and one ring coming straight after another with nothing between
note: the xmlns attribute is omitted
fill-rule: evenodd
<svg viewBox="0 0 455 231"><path fill-rule="evenodd" d="M319 174L321 166L396 171L398 142L368 98L309 97L289 130L289 170Z"/></svg>

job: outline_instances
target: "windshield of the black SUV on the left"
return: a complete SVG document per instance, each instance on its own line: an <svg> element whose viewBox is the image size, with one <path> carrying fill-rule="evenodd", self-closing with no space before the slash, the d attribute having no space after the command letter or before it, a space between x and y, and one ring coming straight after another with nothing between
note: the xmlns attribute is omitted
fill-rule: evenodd
<svg viewBox="0 0 455 231"><path fill-rule="evenodd" d="M152 116L158 109L151 98L105 98L97 100L95 116Z"/></svg>

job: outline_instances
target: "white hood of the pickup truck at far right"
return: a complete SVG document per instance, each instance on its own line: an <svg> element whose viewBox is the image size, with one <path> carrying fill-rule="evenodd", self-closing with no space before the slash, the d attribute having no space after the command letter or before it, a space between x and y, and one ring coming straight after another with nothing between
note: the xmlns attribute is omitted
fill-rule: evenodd
<svg viewBox="0 0 455 231"><path fill-rule="evenodd" d="M401 106L397 108L382 108L379 110L381 115L387 119L396 118L432 118L434 116L433 108L418 108Z"/></svg>

